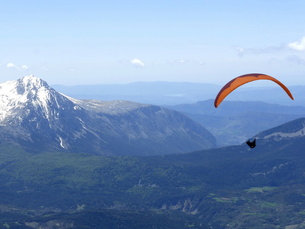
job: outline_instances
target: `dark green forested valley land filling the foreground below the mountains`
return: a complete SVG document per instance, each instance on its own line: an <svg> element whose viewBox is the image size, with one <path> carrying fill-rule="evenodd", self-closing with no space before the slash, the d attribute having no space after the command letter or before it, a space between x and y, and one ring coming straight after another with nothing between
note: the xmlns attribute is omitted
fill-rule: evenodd
<svg viewBox="0 0 305 229"><path fill-rule="evenodd" d="M304 145L152 157L1 145L0 228L304 228Z"/></svg>

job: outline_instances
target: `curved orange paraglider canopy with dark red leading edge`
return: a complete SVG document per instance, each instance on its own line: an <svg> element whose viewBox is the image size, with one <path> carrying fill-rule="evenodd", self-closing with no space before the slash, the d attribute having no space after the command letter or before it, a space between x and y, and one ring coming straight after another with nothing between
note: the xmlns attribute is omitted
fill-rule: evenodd
<svg viewBox="0 0 305 229"><path fill-rule="evenodd" d="M273 82L276 82L278 85L280 85L282 87L282 89L285 90L285 92L293 100L293 97L292 97L290 91L288 90L288 88L286 88L285 85L282 84L281 82L279 82L276 78L273 78L269 75L253 73L253 74L246 74L246 75L241 75L239 77L236 77L236 78L232 79L230 82L228 82L226 85L224 85L224 87L220 90L220 92L216 96L214 106L218 107L218 105L221 103L221 101L224 100L224 98L228 94L230 94L232 91L234 91L239 86L241 86L245 83L254 81L254 80L259 80L259 79L268 79L268 80L272 80Z"/></svg>

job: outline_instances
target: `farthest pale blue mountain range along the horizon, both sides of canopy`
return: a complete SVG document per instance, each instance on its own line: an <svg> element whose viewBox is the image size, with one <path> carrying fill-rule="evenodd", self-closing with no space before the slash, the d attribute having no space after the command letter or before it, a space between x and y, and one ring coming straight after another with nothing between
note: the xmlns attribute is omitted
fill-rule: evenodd
<svg viewBox="0 0 305 229"><path fill-rule="evenodd" d="M51 85L54 89L77 99L102 101L129 100L155 105L192 104L215 99L223 85L190 82L134 82L105 85ZM305 86L288 87L294 100L275 84L274 87L245 87L244 85L226 97L226 101L264 101L270 104L305 106Z"/></svg>

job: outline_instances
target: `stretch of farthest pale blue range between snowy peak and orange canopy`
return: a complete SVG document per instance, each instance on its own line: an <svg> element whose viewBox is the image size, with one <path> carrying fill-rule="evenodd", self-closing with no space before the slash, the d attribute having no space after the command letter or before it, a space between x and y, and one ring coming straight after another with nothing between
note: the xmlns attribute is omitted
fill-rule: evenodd
<svg viewBox="0 0 305 229"><path fill-rule="evenodd" d="M145 104L194 103L213 98L220 85L190 82L134 82L128 84L101 84L63 86L51 85L60 93L77 99L102 101L128 100Z"/></svg>

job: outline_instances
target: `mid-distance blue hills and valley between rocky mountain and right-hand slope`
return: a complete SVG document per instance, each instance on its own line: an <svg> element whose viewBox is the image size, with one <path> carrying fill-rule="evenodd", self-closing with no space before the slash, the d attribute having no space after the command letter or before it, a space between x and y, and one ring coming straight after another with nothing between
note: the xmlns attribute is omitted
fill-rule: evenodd
<svg viewBox="0 0 305 229"><path fill-rule="evenodd" d="M215 108L211 99L165 107L185 113L208 129L216 137L218 147L241 144L265 129L305 117L305 107L260 101L223 101Z"/></svg>

